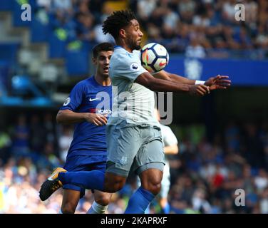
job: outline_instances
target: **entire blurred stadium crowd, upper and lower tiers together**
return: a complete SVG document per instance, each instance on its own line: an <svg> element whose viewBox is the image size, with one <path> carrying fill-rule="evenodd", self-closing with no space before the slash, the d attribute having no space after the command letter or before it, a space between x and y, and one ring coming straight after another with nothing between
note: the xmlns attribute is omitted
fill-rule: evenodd
<svg viewBox="0 0 268 228"><path fill-rule="evenodd" d="M31 1L31 0L29 0ZM113 42L101 24L113 9L104 0L36 0L36 16L68 41ZM188 57L267 58L266 0L132 0L127 1L148 42L163 43L170 53ZM245 21L235 21L235 4L245 6ZM25 114L25 113L24 113ZM29 115L27 115L29 116ZM61 190L41 202L38 190L54 167L63 166L73 137L71 126L56 125L56 113L19 115L0 128L0 213L58 213ZM170 156L171 213L268 213L268 123L230 121L209 142L204 135L179 134L179 155ZM195 133L197 134L197 132ZM198 140L196 140L198 138ZM123 213L136 179L113 195L108 213ZM235 190L246 194L235 205ZM86 213L91 191L78 204ZM160 213L155 201L151 213Z"/></svg>

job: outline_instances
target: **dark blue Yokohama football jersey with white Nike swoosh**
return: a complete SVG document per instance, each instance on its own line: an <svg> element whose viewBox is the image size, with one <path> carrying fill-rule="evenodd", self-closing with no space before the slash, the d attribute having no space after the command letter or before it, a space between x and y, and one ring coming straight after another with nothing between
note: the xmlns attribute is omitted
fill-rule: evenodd
<svg viewBox="0 0 268 228"><path fill-rule="evenodd" d="M101 86L92 76L73 87L61 110L106 114L108 118L112 113L112 103L112 86ZM105 128L106 125L96 126L87 121L77 123L67 156L106 155Z"/></svg>

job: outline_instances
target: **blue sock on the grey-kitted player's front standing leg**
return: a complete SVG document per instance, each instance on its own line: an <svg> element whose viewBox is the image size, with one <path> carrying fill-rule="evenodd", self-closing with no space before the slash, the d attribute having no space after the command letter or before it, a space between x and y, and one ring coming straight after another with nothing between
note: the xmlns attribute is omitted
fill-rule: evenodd
<svg viewBox="0 0 268 228"><path fill-rule="evenodd" d="M150 202L155 198L153 193L139 187L130 197L125 214L144 214Z"/></svg>

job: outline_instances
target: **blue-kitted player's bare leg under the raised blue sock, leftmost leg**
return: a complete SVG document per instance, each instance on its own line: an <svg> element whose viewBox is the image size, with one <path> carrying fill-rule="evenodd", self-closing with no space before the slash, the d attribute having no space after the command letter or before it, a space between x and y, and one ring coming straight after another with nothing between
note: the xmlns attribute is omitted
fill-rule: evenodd
<svg viewBox="0 0 268 228"><path fill-rule="evenodd" d="M81 197L81 192L78 190L69 190L69 189L63 190L61 211L63 213L64 212L74 213L80 197Z"/></svg>

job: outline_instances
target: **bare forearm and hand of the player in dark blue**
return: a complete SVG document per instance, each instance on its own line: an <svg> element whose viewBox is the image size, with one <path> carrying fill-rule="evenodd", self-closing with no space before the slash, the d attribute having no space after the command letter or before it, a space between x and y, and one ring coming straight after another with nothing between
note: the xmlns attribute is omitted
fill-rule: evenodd
<svg viewBox="0 0 268 228"><path fill-rule="evenodd" d="M88 121L97 126L106 125L107 118L104 115L96 113L76 113L72 110L59 110L57 117L57 123L61 124L72 124L72 123L81 123L83 121Z"/></svg>

